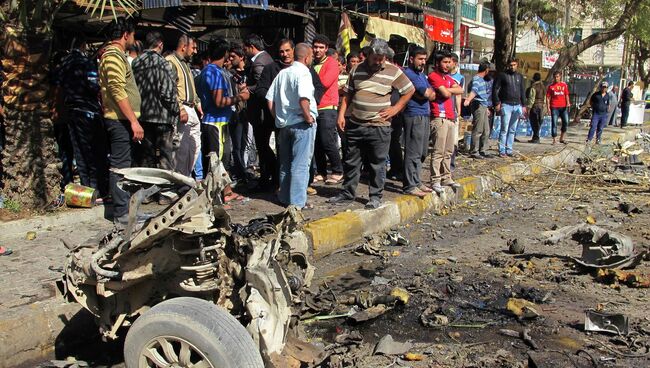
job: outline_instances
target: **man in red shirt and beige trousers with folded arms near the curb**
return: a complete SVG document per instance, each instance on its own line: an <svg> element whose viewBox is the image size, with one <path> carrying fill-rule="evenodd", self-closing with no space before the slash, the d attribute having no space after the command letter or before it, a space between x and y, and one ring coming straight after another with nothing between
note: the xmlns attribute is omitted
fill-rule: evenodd
<svg viewBox="0 0 650 368"><path fill-rule="evenodd" d="M449 75L451 68L451 53L441 51L436 54L436 70L428 77L429 84L436 92L436 99L431 101L431 136L434 142L431 153L431 189L438 194L444 191L443 185L460 188L460 184L451 178L451 154L456 139L456 112L452 96L462 95L463 87Z"/></svg>

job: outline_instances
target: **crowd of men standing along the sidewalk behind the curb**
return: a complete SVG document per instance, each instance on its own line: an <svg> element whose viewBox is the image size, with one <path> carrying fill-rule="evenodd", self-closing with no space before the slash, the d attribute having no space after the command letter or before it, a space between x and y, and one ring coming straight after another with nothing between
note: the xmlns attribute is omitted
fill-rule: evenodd
<svg viewBox="0 0 650 368"><path fill-rule="evenodd" d="M81 184L112 199L118 222L126 221L129 196L108 168L155 167L202 180L210 170L207 156L216 153L233 179L222 193L224 202L243 199L237 192L248 188L277 193L279 203L301 209L312 208L313 183L341 184L328 202L345 204L355 199L367 175L366 208L374 209L381 205L387 177L401 180L404 193L418 197L459 187L452 170L462 105L473 116L469 152L475 159L491 157L495 114L501 115L502 157L513 155L522 115L530 114L531 142L539 142L545 106L553 143L558 118L560 142L567 129L566 84L556 75L544 88L536 76L525 91L514 60L496 77L490 64L481 63L466 94L456 55L437 52L427 74L425 49L410 48L402 68L382 39L346 57L323 35L309 44L283 39L274 60L254 34L241 44L212 40L201 55L186 35L169 53L158 32L148 33L141 45L134 36L134 24L118 18L97 66L82 43L60 63L55 80ZM431 179L424 183L422 165L429 154ZM151 200L167 204L175 196L163 193Z"/></svg>

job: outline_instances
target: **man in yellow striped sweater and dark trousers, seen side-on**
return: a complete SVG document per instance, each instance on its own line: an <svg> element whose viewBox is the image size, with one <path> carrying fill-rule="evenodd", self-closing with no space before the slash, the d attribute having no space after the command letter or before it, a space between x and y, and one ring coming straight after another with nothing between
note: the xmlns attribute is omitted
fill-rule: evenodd
<svg viewBox="0 0 650 368"><path fill-rule="evenodd" d="M131 167L131 141L141 143L144 138L138 122L140 91L125 54L127 47L135 42L135 25L130 19L120 17L110 27L111 42L104 49L99 63L99 86L111 151L109 165L113 169L124 169ZM126 224L130 196L118 188L118 180L119 176L111 171L113 217L116 223Z"/></svg>

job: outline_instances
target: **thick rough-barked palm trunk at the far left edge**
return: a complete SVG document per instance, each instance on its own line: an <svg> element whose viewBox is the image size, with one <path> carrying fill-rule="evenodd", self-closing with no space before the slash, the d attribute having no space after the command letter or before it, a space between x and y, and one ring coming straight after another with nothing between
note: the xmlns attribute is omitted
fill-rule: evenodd
<svg viewBox="0 0 650 368"><path fill-rule="evenodd" d="M6 146L3 193L28 208L41 208L59 193L61 174L50 114L45 33L5 27L3 48Z"/></svg>

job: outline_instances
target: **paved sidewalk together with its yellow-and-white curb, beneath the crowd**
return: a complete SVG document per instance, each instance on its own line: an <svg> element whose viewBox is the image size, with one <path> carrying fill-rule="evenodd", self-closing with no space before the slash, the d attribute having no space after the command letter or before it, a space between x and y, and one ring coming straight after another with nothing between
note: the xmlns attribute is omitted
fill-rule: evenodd
<svg viewBox="0 0 650 368"><path fill-rule="evenodd" d="M607 128L603 140L606 143L631 140L640 128ZM567 136L568 146L551 145L550 139L543 140L542 144L515 143L515 151L521 155L514 159L473 160L459 156L454 177L462 188L456 193L447 189L440 197L429 195L419 199L403 195L401 183L388 181L385 204L376 210L363 210L365 200L357 200L347 207L326 204L326 199L338 189L318 185L319 194L310 197L315 209L305 211L308 223L304 228L314 255L322 257L366 235L414 220L426 211L439 211L465 199L490 194L504 183L540 174L546 167L556 168L574 162L585 149L586 128L571 130ZM496 147L496 141L490 144ZM360 185L358 195L367 196L365 184ZM281 210L273 197L267 195L234 204L230 213L233 221L246 222L258 214ZM56 337L79 311L78 305L67 304L58 296L54 286L68 253L63 241L77 244L109 230L112 225L104 218L104 212L103 207L68 209L50 216L0 223L0 244L14 250L11 256L0 258L4 285L0 288L0 367L52 356ZM26 240L27 231L35 231L36 238Z"/></svg>

